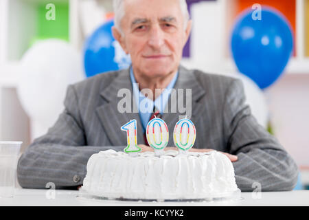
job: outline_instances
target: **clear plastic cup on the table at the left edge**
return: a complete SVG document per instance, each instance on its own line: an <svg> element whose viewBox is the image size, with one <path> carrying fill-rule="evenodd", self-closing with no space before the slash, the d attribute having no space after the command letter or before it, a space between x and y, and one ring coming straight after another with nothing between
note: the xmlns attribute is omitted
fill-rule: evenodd
<svg viewBox="0 0 309 220"><path fill-rule="evenodd" d="M0 197L14 197L16 168L23 142L0 142Z"/></svg>

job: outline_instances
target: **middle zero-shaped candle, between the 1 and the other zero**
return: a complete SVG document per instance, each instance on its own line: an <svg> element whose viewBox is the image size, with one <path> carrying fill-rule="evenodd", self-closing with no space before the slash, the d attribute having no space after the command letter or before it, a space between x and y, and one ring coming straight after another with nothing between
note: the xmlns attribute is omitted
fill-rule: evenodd
<svg viewBox="0 0 309 220"><path fill-rule="evenodd" d="M168 125L161 118L153 118L147 124L146 137L155 155L162 155L168 145Z"/></svg>

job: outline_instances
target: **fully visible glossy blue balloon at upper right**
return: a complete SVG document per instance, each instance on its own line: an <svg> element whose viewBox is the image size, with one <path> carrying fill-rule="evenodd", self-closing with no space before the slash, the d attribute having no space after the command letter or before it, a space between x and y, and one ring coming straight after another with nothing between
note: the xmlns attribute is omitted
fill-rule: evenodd
<svg viewBox="0 0 309 220"><path fill-rule="evenodd" d="M271 8L255 19L253 10L244 12L231 36L231 52L238 70L261 89L282 74L293 52L293 34L288 21Z"/></svg>

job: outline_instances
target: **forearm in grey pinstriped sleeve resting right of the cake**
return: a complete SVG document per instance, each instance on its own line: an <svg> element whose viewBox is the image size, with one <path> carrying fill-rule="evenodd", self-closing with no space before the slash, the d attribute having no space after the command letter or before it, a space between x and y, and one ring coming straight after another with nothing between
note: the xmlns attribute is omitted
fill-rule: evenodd
<svg viewBox="0 0 309 220"><path fill-rule="evenodd" d="M285 152L275 149L254 149L238 153L233 162L236 184L242 191L293 190L297 181L298 168Z"/></svg>

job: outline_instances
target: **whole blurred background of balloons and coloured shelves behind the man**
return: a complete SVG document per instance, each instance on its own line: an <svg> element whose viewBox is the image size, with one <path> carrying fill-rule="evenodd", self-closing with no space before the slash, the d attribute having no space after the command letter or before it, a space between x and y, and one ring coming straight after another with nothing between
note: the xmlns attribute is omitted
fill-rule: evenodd
<svg viewBox="0 0 309 220"><path fill-rule="evenodd" d="M253 115L309 188L309 0L187 0L182 64L240 78ZM22 151L63 110L67 85L128 67L112 0L0 1L0 140Z"/></svg>

